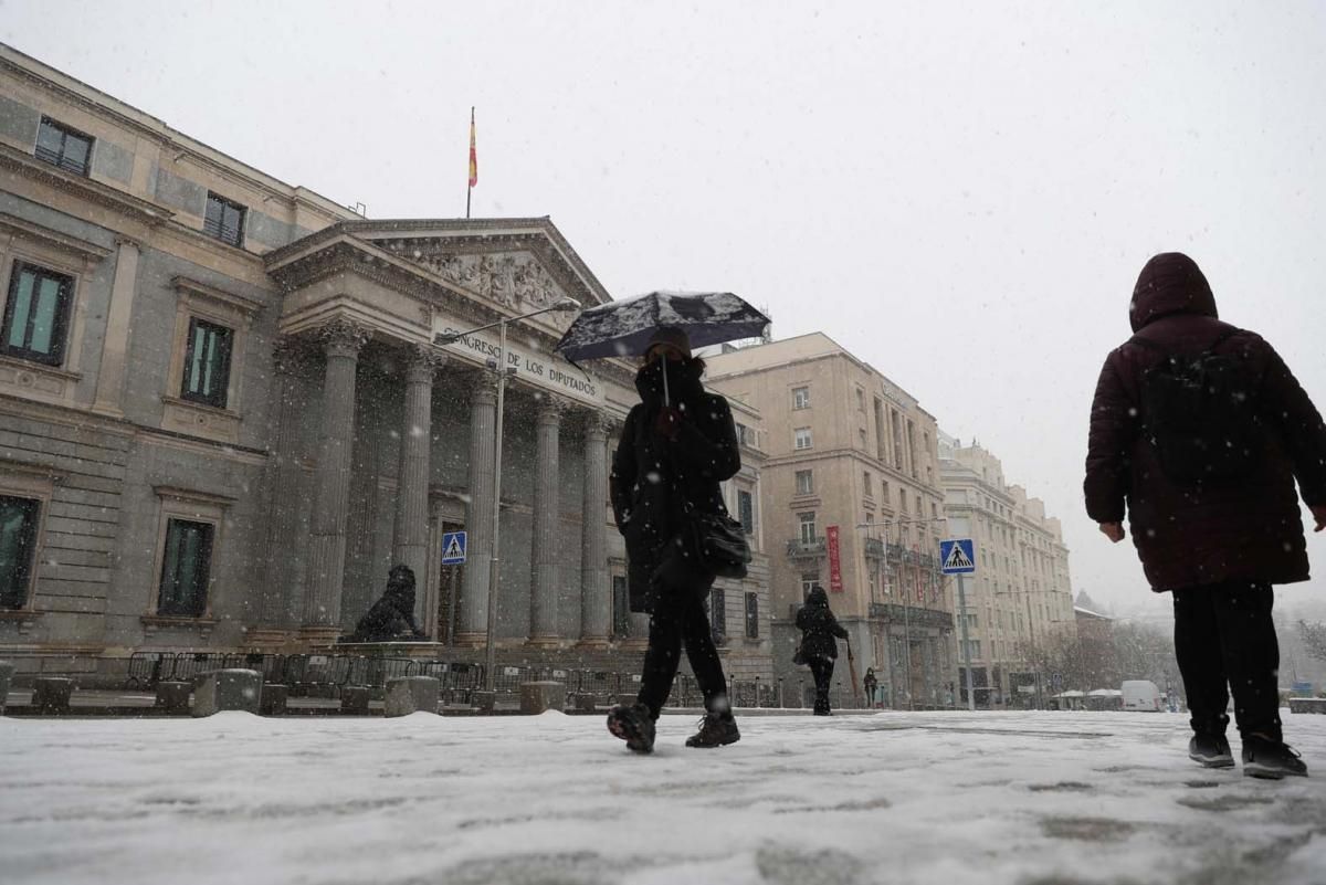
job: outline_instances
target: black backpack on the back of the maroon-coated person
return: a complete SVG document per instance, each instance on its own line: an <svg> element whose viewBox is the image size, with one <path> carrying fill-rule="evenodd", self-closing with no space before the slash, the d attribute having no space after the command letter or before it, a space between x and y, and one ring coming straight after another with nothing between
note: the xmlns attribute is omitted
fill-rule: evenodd
<svg viewBox="0 0 1326 885"><path fill-rule="evenodd" d="M1237 481L1264 457L1256 379L1241 356L1215 352L1237 333L1225 330L1199 354L1171 354L1146 338L1131 339L1166 356L1142 375L1142 433L1160 470L1177 485Z"/></svg>

